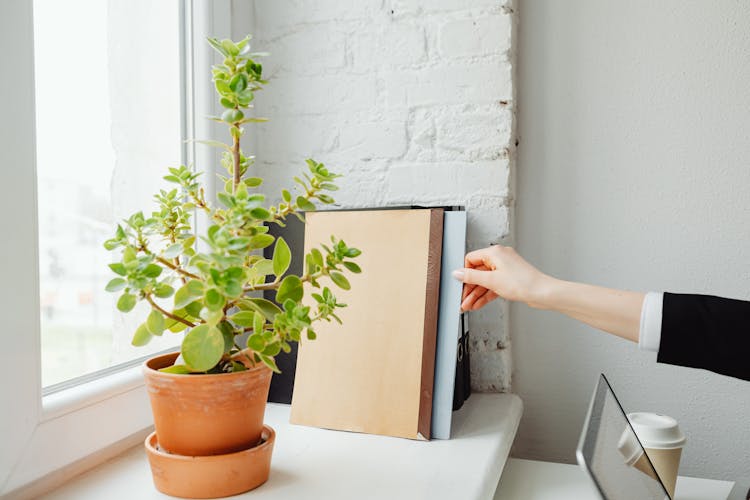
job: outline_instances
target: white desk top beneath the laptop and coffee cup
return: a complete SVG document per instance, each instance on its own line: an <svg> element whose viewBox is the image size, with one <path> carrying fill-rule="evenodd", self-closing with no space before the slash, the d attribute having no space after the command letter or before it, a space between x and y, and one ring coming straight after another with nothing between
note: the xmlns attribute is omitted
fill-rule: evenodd
<svg viewBox="0 0 750 500"><path fill-rule="evenodd" d="M726 500L731 481L677 478L675 500ZM600 500L586 472L578 465L511 458L505 464L495 500Z"/></svg>

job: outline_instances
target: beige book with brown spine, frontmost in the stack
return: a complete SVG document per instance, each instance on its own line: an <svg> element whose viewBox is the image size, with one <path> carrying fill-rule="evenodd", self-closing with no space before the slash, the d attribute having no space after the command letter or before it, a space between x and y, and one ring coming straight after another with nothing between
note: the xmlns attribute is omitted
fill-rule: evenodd
<svg viewBox="0 0 750 500"><path fill-rule="evenodd" d="M305 253L335 235L362 250L362 273L347 273L348 291L320 280L347 307L337 311L343 325L317 323L317 339L299 346L291 422L429 439L443 210L313 212L306 220Z"/></svg>

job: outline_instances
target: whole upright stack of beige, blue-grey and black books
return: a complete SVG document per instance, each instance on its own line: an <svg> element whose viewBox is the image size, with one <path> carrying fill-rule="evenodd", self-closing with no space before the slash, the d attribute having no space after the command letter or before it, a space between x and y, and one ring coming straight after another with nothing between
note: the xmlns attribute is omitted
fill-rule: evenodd
<svg viewBox="0 0 750 500"><path fill-rule="evenodd" d="M274 226L296 255L335 235L362 250L347 304L277 358L269 400L292 403L291 422L411 439L448 439L452 412L470 394L468 325L460 313L466 212L411 208L311 212ZM321 280L321 284L323 280ZM309 290L308 290L309 291ZM267 296L273 299L272 292Z"/></svg>

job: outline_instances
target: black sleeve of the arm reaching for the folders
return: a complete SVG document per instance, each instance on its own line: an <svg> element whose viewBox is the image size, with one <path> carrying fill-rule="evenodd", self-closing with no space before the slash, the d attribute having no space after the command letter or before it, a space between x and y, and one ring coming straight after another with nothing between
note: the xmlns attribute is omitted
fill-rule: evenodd
<svg viewBox="0 0 750 500"><path fill-rule="evenodd" d="M656 360L750 380L750 302L665 293Z"/></svg>

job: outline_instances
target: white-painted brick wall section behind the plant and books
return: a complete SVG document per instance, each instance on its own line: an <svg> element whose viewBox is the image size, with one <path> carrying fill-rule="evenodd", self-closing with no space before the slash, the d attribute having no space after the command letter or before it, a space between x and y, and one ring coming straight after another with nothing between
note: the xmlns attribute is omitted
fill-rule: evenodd
<svg viewBox="0 0 750 500"><path fill-rule="evenodd" d="M253 6L254 48L271 53L256 105L271 121L250 133L272 192L312 156L345 174L341 207L465 205L470 249L510 241L511 2ZM471 317L475 390L510 388L506 318L500 303Z"/></svg>

